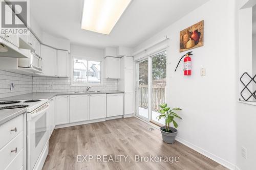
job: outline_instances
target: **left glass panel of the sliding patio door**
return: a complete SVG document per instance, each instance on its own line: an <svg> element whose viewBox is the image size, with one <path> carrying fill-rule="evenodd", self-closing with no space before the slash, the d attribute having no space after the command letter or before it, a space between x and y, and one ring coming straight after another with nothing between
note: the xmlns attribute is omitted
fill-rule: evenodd
<svg viewBox="0 0 256 170"><path fill-rule="evenodd" d="M148 118L148 60L139 62L139 115Z"/></svg>

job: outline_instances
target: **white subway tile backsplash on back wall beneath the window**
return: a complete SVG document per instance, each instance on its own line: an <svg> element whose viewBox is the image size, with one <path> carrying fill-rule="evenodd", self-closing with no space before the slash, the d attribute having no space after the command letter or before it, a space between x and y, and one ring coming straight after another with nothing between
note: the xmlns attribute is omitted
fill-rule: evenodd
<svg viewBox="0 0 256 170"><path fill-rule="evenodd" d="M33 77L33 92L62 92L84 90L86 90L86 86L70 86L70 78ZM90 90L117 90L117 80L103 79L103 86L92 86Z"/></svg>

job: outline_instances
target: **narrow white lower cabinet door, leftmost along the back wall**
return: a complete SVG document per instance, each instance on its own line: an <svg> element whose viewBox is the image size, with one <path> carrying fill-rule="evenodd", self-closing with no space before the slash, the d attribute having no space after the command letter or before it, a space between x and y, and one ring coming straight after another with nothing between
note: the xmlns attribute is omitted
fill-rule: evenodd
<svg viewBox="0 0 256 170"><path fill-rule="evenodd" d="M69 95L56 96L56 125L69 123Z"/></svg>

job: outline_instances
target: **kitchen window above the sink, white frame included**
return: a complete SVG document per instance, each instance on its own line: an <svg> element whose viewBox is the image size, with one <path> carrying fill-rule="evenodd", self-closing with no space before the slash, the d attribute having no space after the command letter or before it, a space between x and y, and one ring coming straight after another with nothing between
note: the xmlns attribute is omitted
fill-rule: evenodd
<svg viewBox="0 0 256 170"><path fill-rule="evenodd" d="M73 58L74 86L101 85L101 62Z"/></svg>

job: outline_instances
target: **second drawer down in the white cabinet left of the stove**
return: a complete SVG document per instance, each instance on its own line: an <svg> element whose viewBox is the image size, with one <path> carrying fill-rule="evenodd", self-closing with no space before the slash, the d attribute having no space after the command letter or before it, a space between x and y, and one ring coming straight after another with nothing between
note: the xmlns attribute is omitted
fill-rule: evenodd
<svg viewBox="0 0 256 170"><path fill-rule="evenodd" d="M23 132L19 133L7 145L5 145L4 148L2 148L0 150L0 169L5 169L7 167L7 165L22 150L23 150ZM20 166L22 166L22 165L20 165Z"/></svg>

